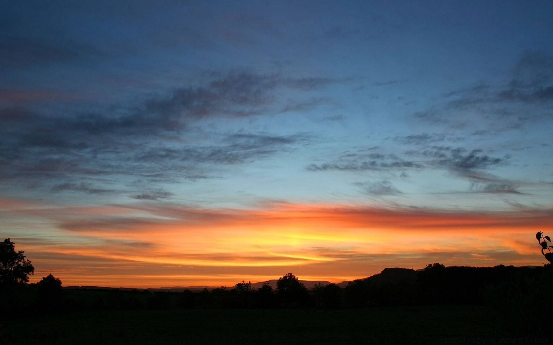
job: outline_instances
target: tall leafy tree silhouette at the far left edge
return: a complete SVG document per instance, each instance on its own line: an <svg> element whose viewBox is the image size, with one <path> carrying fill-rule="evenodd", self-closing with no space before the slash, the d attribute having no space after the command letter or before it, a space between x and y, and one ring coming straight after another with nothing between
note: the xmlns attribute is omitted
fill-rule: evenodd
<svg viewBox="0 0 553 345"><path fill-rule="evenodd" d="M29 282L34 267L24 251L15 251L15 243L6 238L0 242L0 287Z"/></svg>

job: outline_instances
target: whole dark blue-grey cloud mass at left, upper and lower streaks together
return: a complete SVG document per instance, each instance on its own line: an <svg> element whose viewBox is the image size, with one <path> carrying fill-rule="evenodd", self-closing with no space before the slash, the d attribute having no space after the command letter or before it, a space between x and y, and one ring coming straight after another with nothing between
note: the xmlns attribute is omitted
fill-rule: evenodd
<svg viewBox="0 0 553 345"><path fill-rule="evenodd" d="M121 175L165 182L213 178L213 164L253 162L304 145L309 136L211 135L206 132L209 129L198 127L198 120L256 116L270 108L269 114L276 114L281 111L275 102L276 89L313 91L342 81L213 72L204 82L174 88L165 95L148 95L132 108L53 111L8 104L0 108L0 181L38 186L51 180L54 187L45 185L53 192L108 193L109 186L79 178ZM324 102L328 99L312 98L296 105L316 107ZM209 144L186 140L198 134L208 135Z"/></svg>

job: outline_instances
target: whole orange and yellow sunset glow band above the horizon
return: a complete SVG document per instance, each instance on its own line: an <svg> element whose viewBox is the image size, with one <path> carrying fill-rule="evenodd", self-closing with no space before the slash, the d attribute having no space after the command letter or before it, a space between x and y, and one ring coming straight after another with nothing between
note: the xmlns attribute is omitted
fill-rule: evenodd
<svg viewBox="0 0 553 345"><path fill-rule="evenodd" d="M2 203L2 200L0 200ZM341 282L386 267L541 264L535 231L553 213L387 209L273 204L259 210L114 205L67 208L11 204L12 217L53 228L12 238L35 266L64 285L160 287L232 285L241 280ZM258 277L259 279L257 279Z"/></svg>

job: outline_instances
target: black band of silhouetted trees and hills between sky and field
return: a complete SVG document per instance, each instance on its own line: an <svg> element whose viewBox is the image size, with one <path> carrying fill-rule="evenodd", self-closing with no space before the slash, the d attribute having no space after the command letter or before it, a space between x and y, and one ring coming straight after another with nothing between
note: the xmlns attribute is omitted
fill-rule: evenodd
<svg viewBox="0 0 553 345"><path fill-rule="evenodd" d="M315 284L307 289L294 274L254 288L242 281L233 288L182 292L129 289L62 289L53 275L28 284L34 268L9 238L0 242L0 312L4 317L74 310L154 309L307 309L337 310L382 306L488 305L521 332L534 324L551 325L547 300L553 268L445 267L386 268L346 286ZM524 319L524 322L517 320Z"/></svg>

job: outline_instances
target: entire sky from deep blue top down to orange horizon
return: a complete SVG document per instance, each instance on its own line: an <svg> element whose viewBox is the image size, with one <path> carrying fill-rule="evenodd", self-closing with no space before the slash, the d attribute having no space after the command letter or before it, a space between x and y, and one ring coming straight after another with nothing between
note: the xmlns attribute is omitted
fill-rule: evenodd
<svg viewBox="0 0 553 345"><path fill-rule="evenodd" d="M541 265L551 1L0 4L0 237L64 285Z"/></svg>

